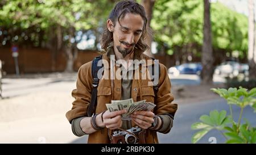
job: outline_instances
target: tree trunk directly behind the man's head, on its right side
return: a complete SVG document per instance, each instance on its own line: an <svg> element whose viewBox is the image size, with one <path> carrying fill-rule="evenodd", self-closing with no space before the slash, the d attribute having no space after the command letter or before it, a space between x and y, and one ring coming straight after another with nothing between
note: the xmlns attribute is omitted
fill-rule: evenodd
<svg viewBox="0 0 256 155"><path fill-rule="evenodd" d="M150 27L150 22L152 19L152 12L153 12L154 4L155 4L155 0L142 0L142 6L144 7L144 9L146 11L146 15L147 15L147 31L149 32L145 42L150 47L144 53L150 57L152 57L152 53L151 53L152 30Z"/></svg>

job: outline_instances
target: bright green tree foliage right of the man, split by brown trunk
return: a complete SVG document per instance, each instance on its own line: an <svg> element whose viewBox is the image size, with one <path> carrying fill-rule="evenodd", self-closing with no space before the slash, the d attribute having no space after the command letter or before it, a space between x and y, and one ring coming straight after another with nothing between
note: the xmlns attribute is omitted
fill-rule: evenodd
<svg viewBox="0 0 256 155"><path fill-rule="evenodd" d="M175 6L175 7L174 7ZM155 1L151 27L160 52L174 55L176 65L199 61L203 45L203 1ZM211 3L211 28L214 65L226 60L227 53L239 52L247 60L247 17L221 3Z"/></svg>

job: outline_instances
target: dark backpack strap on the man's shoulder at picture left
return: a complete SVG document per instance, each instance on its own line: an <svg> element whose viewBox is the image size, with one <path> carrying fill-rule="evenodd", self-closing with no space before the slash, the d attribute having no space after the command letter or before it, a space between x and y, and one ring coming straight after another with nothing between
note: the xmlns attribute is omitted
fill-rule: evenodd
<svg viewBox="0 0 256 155"><path fill-rule="evenodd" d="M90 117L94 114L96 111L96 106L97 106L97 87L98 83L100 81L101 77L98 77L98 70L100 70L103 67L102 64L102 55L95 57L92 61L92 78L93 78L93 83L92 83L92 96L90 98L90 104L87 109L87 115Z"/></svg>

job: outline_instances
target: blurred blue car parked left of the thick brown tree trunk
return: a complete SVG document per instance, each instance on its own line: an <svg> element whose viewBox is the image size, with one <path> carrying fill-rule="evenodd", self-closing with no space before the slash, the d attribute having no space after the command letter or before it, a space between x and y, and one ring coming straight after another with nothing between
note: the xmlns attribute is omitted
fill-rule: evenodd
<svg viewBox="0 0 256 155"><path fill-rule="evenodd" d="M201 64L198 63L185 63L177 66L173 66L168 69L168 73L174 74L174 76L179 76L179 74L198 74L200 75L202 71Z"/></svg>

